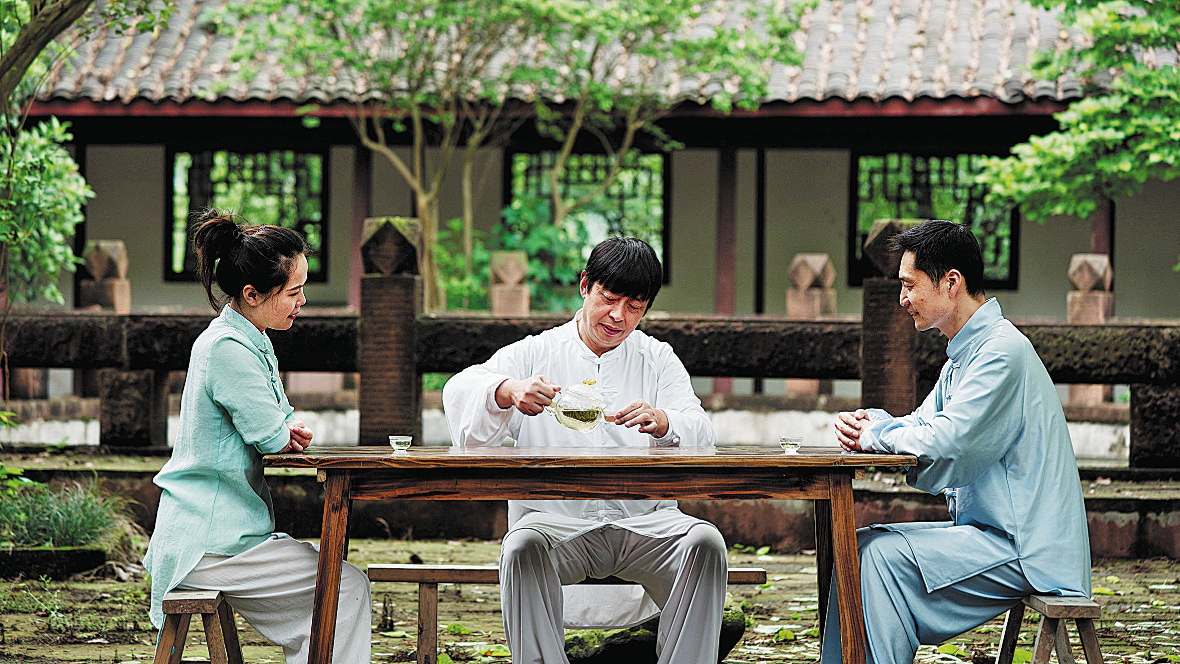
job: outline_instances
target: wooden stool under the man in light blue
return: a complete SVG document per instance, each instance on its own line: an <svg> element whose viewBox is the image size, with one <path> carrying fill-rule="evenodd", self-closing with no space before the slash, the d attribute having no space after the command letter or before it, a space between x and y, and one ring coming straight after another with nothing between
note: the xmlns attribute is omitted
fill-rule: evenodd
<svg viewBox="0 0 1180 664"><path fill-rule="evenodd" d="M1016 637L1021 633L1021 620L1024 607L1041 613L1041 629L1036 633L1032 646L1032 660L1029 664L1048 664L1049 655L1057 649L1058 664L1074 664L1074 653L1069 649L1069 632L1066 622L1073 619L1077 624L1077 635L1082 638L1082 651L1088 664L1102 664L1102 651L1099 650L1099 636L1094 631L1094 618L1102 614L1102 609L1086 597L1058 597L1055 594L1030 594L1008 612L1004 619L1004 635L999 637L999 653L996 664L1012 664L1016 652Z"/></svg>

